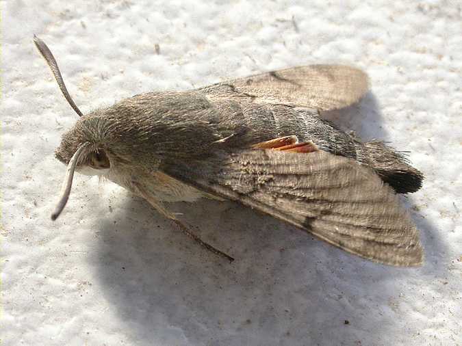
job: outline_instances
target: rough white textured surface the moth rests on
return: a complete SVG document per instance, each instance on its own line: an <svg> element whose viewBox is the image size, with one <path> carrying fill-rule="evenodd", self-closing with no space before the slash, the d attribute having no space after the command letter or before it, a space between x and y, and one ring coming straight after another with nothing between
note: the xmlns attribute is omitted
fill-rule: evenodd
<svg viewBox="0 0 462 346"><path fill-rule="evenodd" d="M2 345L461 345L459 1L0 1ZM231 202L175 204L205 252L149 204L53 156L82 111L274 68L343 63L372 91L326 114L426 175L403 203L422 267L346 254ZM159 53L155 45L159 45ZM346 322L348 321L348 323Z"/></svg>

